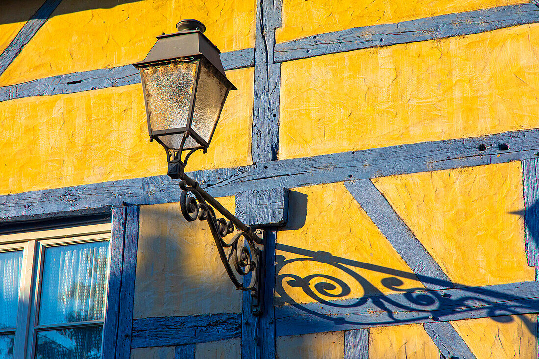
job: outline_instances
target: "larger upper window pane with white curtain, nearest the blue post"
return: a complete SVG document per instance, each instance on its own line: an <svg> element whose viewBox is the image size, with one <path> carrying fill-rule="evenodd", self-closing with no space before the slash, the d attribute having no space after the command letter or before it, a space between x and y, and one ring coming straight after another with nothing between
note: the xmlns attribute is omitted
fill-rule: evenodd
<svg viewBox="0 0 539 359"><path fill-rule="evenodd" d="M108 242L46 247L39 324L102 320Z"/></svg>

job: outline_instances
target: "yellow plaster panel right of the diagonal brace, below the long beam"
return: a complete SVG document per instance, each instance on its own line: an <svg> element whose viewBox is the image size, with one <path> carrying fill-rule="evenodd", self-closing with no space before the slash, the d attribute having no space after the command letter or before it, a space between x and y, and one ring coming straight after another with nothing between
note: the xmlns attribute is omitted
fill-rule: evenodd
<svg viewBox="0 0 539 359"><path fill-rule="evenodd" d="M374 179L444 272L461 285L534 280L524 249L520 162Z"/></svg>

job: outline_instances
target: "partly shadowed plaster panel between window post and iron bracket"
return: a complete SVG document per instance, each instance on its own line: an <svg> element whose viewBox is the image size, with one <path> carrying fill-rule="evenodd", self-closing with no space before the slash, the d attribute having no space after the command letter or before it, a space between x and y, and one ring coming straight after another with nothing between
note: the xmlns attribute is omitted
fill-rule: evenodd
<svg viewBox="0 0 539 359"><path fill-rule="evenodd" d="M219 201L233 210L234 198ZM212 313L241 313L241 293L208 224L186 222L178 203L141 206L133 317Z"/></svg>

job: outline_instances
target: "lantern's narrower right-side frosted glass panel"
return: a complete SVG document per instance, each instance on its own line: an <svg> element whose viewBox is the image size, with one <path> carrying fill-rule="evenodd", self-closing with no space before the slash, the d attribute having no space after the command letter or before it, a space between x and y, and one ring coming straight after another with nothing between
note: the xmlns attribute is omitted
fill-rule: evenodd
<svg viewBox="0 0 539 359"><path fill-rule="evenodd" d="M223 74L208 61L203 60L195 96L191 130L201 136L208 144L230 88L230 82Z"/></svg>

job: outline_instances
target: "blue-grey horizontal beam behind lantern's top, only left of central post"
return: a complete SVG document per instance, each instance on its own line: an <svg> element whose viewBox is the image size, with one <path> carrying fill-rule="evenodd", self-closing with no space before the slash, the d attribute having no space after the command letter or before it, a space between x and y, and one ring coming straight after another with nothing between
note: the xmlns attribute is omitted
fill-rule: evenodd
<svg viewBox="0 0 539 359"><path fill-rule="evenodd" d="M221 54L225 70L254 66L254 49ZM133 65L99 68L66 75L47 77L22 84L0 87L0 102L30 96L56 95L98 88L138 84L139 71Z"/></svg>

